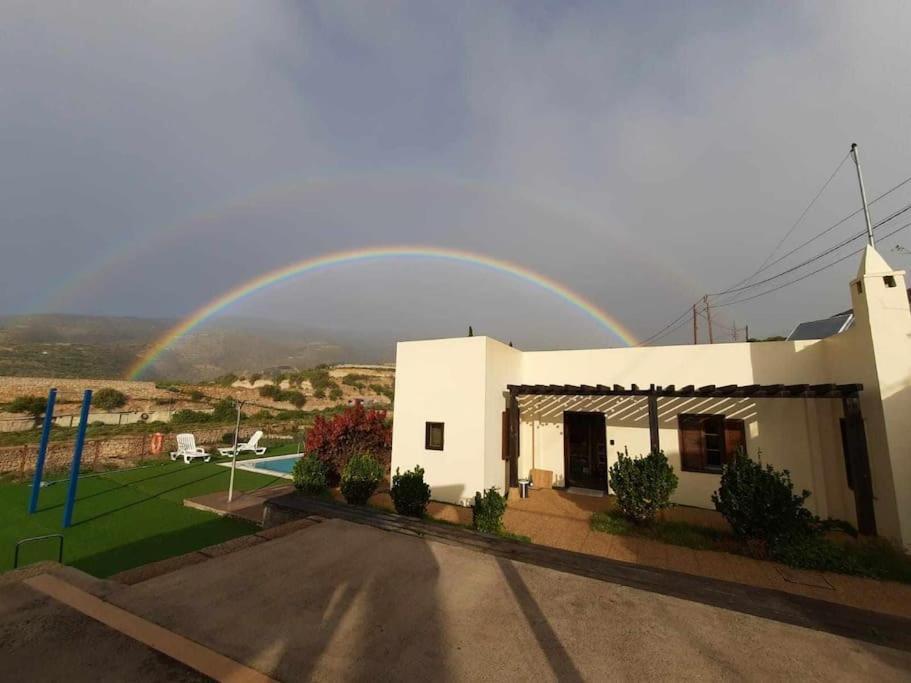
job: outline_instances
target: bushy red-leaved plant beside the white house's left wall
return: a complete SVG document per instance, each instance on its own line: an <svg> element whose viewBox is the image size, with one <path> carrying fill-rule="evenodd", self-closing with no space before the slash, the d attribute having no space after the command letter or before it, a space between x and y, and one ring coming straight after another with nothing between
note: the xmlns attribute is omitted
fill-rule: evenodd
<svg viewBox="0 0 911 683"><path fill-rule="evenodd" d="M330 419L317 416L307 432L307 453L313 453L326 464L331 485L351 456L368 453L388 471L392 450L392 427L386 411L367 410L356 404Z"/></svg>

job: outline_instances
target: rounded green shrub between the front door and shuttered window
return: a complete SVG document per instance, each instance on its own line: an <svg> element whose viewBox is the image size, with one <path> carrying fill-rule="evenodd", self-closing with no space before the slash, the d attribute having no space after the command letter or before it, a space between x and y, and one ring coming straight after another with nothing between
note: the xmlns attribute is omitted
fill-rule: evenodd
<svg viewBox="0 0 911 683"><path fill-rule="evenodd" d="M658 510L670 506L677 475L664 451L652 451L641 458L623 453L618 456L608 471L617 506L627 519L637 524L651 522Z"/></svg>

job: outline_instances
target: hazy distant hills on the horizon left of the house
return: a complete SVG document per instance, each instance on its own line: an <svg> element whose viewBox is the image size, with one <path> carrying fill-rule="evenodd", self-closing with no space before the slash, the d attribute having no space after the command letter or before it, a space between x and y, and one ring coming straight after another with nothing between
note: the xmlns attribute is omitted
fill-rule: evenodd
<svg viewBox="0 0 911 683"><path fill-rule="evenodd" d="M84 315L0 317L0 375L123 377L175 320ZM204 380L273 366L392 360L389 342L291 323L227 319L165 351L147 379Z"/></svg>

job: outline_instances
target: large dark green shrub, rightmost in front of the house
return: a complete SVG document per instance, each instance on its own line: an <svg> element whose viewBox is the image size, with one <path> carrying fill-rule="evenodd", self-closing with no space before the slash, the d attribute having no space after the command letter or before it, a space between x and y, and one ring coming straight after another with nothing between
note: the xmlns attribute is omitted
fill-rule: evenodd
<svg viewBox="0 0 911 683"><path fill-rule="evenodd" d="M724 466L712 502L735 534L771 545L812 533L814 518L803 505L809 497L809 491L794 493L788 470L763 467L741 452Z"/></svg>

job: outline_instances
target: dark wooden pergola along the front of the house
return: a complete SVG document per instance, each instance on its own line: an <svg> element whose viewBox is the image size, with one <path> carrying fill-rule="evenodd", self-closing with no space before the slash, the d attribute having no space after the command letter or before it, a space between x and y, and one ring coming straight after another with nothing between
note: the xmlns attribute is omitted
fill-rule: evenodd
<svg viewBox="0 0 911 683"><path fill-rule="evenodd" d="M658 439L658 398L816 398L840 399L845 418L845 445L848 466L854 482L854 503L857 508L857 526L861 533L876 533L873 512L873 482L870 475L870 458L864 433L863 414L860 410L862 384L692 384L678 388L671 384L629 387L614 384L509 384L506 400L508 429L506 430L506 457L509 467L509 485L517 486L519 478L519 396L640 396L648 401L648 421L651 447L660 448Z"/></svg>

